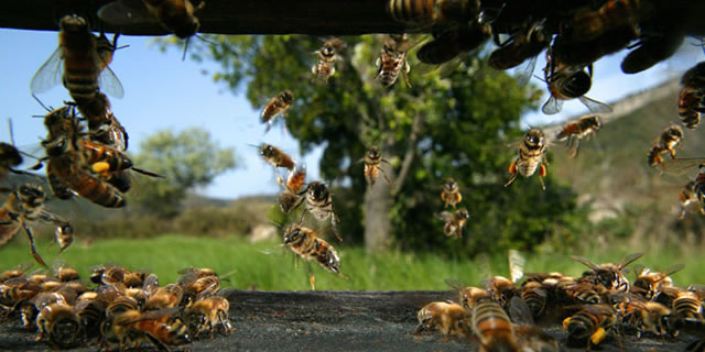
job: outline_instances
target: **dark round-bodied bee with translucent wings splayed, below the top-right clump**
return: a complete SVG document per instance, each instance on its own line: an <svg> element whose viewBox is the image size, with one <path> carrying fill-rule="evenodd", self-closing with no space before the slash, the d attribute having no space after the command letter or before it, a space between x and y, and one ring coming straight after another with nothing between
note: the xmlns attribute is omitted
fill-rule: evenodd
<svg viewBox="0 0 705 352"><path fill-rule="evenodd" d="M597 100L590 99L585 94L593 86L593 65L587 65L587 72L581 66L566 66L561 64L546 51L546 66L543 68L544 80L549 87L551 97L541 108L545 114L555 114L563 108L563 101L577 98L593 112L611 112L612 109Z"/></svg>

